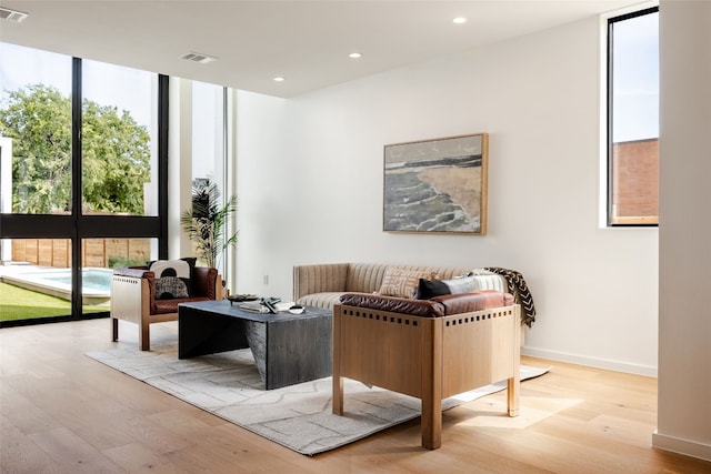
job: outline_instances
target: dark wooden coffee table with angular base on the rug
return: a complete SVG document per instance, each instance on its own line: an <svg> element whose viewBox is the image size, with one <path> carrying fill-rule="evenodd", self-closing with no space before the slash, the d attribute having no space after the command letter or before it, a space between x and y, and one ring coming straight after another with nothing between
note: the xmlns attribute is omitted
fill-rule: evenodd
<svg viewBox="0 0 711 474"><path fill-rule="evenodd" d="M331 375L331 310L253 313L227 300L178 306L178 357L249 347L267 390Z"/></svg>

